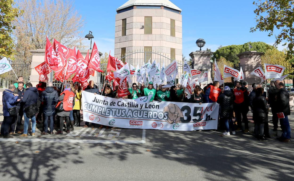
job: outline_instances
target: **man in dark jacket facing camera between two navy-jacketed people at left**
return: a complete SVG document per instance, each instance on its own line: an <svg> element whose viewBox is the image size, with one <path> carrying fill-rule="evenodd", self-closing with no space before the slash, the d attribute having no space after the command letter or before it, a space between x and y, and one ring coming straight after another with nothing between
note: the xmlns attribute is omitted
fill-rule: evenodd
<svg viewBox="0 0 294 181"><path fill-rule="evenodd" d="M26 89L24 89L24 82L19 82L18 83L18 87L16 89L14 89L14 93L18 94L18 100L16 102L16 117L15 117L15 122L14 124L11 125L10 127L10 131L9 134L13 134L14 132L14 128L15 128L15 133L17 134L21 134L20 131L20 126L21 126L21 120L22 120L22 116L24 115L24 103L20 103L20 100L22 99L22 97L24 97L24 92L26 91ZM15 126L16 125L16 126Z"/></svg>

